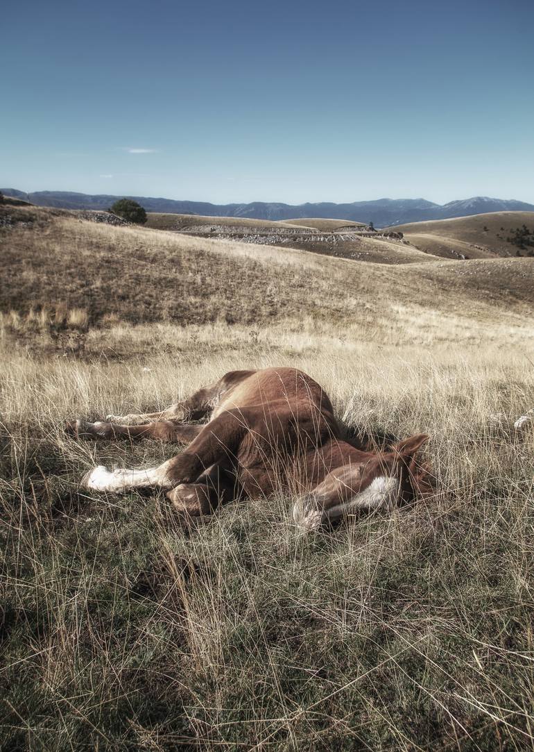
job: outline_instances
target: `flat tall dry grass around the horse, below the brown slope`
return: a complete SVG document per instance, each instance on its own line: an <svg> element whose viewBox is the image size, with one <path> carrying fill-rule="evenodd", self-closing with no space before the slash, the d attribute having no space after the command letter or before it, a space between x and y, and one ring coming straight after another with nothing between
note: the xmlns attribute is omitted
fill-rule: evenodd
<svg viewBox="0 0 534 752"><path fill-rule="evenodd" d="M5 339L3 748L532 747L534 433L513 429L534 406L528 338L394 347L313 323L86 336L84 358ZM185 532L164 496L80 490L95 463L178 449L78 443L64 420L162 408L266 365L311 374L349 429L428 432L435 496L303 537L284 493Z"/></svg>

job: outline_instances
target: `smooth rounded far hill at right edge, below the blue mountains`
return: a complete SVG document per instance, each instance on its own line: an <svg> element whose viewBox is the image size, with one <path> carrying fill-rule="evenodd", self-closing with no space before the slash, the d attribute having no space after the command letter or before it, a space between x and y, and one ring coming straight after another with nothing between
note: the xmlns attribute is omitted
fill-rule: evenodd
<svg viewBox="0 0 534 752"><path fill-rule="evenodd" d="M515 229L526 225L534 232L534 211L499 211L433 222L397 225L415 247L435 256L468 259L516 256L517 245L508 241ZM526 255L525 250L520 250Z"/></svg>

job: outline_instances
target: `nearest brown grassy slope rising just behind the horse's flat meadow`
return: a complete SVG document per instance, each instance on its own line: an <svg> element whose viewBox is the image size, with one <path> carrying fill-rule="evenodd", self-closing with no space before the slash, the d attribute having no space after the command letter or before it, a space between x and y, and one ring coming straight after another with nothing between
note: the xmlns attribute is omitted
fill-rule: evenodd
<svg viewBox="0 0 534 752"><path fill-rule="evenodd" d="M534 302L534 259L430 263L406 247L426 262L362 264L287 247L109 226L59 210L10 211L20 221L0 229L0 308L6 313L63 305L83 309L92 324L114 318L261 325L306 317L343 323L363 338L403 341L414 326L437 339L453 330L469 337L488 323L493 332L500 326L528 330Z"/></svg>

